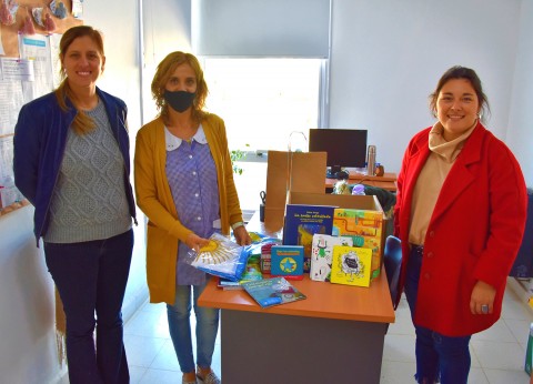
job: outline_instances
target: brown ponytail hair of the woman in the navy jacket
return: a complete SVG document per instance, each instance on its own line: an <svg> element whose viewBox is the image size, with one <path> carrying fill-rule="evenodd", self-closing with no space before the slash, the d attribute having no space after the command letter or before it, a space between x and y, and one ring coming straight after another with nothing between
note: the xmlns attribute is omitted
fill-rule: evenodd
<svg viewBox="0 0 533 384"><path fill-rule="evenodd" d="M67 105L67 99L70 100L74 104L74 107L77 107L77 100L78 100L74 92L72 92L72 89L70 88L69 82L67 81L67 72L63 68L62 59L64 58L64 54L67 53L67 50L69 49L70 44L72 44L72 42L76 39L82 38L86 36L91 38L91 40L97 44L97 49L100 55L102 58L104 57L102 33L93 29L92 27L89 27L89 26L72 27L63 33L61 41L59 42L59 58L61 61L61 69L59 73L61 75L62 81L54 92L59 107L61 108L62 111L67 111L69 109L69 107ZM84 134L94 128L94 122L83 111L78 110L74 121L72 122L72 128L77 133Z"/></svg>

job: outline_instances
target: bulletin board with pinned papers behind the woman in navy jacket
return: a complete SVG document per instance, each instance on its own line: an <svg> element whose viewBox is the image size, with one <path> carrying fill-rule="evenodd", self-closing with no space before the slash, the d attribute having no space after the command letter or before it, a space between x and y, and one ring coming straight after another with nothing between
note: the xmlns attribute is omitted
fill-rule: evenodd
<svg viewBox="0 0 533 384"><path fill-rule="evenodd" d="M20 108L57 87L59 40L82 19L83 0L0 0L0 215L28 204L12 174Z"/></svg>

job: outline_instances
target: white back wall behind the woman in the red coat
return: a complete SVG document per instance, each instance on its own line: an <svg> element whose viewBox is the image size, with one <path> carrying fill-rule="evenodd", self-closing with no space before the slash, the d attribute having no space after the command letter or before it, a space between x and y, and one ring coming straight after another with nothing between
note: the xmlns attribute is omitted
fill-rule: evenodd
<svg viewBox="0 0 533 384"><path fill-rule="evenodd" d="M334 0L330 127L368 129L378 161L398 172L409 139L434 122L428 95L447 68L462 64L480 75L492 108L487 127L505 139L521 3Z"/></svg>

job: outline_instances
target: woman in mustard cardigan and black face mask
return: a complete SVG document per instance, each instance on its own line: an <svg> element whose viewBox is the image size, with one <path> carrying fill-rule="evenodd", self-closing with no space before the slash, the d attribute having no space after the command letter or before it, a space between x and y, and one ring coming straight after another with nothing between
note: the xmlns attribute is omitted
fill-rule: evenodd
<svg viewBox="0 0 533 384"><path fill-rule="evenodd" d="M152 303L165 302L182 383L220 383L211 370L219 310L197 306L209 276L184 256L213 232L233 229L250 244L233 182L222 119L203 111L208 85L197 58L172 52L152 80L159 117L137 135L134 175L139 208L149 219L147 274ZM192 289L192 290L191 290ZM191 291L193 299L191 302ZM190 312L197 316L197 372Z"/></svg>

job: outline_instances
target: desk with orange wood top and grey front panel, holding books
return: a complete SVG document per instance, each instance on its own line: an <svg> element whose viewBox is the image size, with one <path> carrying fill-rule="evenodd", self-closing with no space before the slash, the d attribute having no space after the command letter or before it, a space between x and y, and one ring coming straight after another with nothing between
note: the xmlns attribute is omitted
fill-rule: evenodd
<svg viewBox="0 0 533 384"><path fill-rule="evenodd" d="M252 218L248 228L261 224ZM309 274L291 283L308 299L264 310L244 291L208 283L198 303L221 309L224 383L379 383L394 322L385 272L370 287L314 282Z"/></svg>

